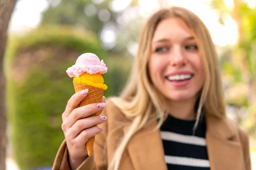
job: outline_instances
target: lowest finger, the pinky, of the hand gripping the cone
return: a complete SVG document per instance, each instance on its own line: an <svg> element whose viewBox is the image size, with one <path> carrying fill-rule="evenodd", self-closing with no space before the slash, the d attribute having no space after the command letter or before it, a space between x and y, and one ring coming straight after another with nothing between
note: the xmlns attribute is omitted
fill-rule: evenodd
<svg viewBox="0 0 256 170"><path fill-rule="evenodd" d="M102 132L102 127L93 126L88 129L84 129L75 139L74 143L84 145L88 139Z"/></svg>

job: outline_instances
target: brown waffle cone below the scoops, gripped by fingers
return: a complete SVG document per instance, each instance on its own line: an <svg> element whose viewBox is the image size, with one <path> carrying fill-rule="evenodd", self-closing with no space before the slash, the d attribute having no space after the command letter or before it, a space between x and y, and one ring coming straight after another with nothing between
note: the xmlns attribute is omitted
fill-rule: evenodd
<svg viewBox="0 0 256 170"><path fill-rule="evenodd" d="M91 104L91 103L100 103L100 102L102 102L102 97L103 97L103 93L104 93L103 89L96 88L96 87L93 87L91 85L86 85L86 84L83 84L83 83L80 83L80 82L74 82L74 81L73 81L73 85L74 85L74 88L75 88L76 92L81 91L81 90L85 90L85 89L89 90L85 99L83 99L79 103L79 107L84 106L84 105L88 105L88 104ZM94 113L94 114L92 114L88 117L99 116L99 114L100 114L100 112L97 112L97 113ZM95 139L94 136L91 137L85 144L89 156L91 156L92 153L93 153L94 139Z"/></svg>

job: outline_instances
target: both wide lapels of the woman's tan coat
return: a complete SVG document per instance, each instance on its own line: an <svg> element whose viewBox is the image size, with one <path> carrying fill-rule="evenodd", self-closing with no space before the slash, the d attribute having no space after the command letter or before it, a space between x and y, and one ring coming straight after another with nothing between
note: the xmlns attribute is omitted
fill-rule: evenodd
<svg viewBox="0 0 256 170"><path fill-rule="evenodd" d="M206 116L207 150L211 170L244 170L241 144L233 123L227 118ZM135 170L167 170L160 130L153 122L137 132L128 142L127 149ZM131 125L124 127L127 134Z"/></svg>

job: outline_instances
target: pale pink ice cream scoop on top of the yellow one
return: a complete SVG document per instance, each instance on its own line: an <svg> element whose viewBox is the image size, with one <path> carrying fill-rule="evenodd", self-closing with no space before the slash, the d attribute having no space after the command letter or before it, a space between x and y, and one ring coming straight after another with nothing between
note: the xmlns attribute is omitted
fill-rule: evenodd
<svg viewBox="0 0 256 170"><path fill-rule="evenodd" d="M93 53L84 53L78 57L76 64L67 69L69 77L79 77L81 74L87 72L89 74L104 74L108 71L103 60Z"/></svg>

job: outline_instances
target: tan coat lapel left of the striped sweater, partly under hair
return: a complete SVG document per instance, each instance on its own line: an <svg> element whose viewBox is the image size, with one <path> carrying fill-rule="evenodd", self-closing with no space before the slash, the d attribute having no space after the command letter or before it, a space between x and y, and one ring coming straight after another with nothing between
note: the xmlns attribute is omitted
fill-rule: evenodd
<svg viewBox="0 0 256 170"><path fill-rule="evenodd" d="M127 149L135 170L167 170L160 131L157 123L137 132L128 142ZM131 125L124 127L126 134Z"/></svg>

